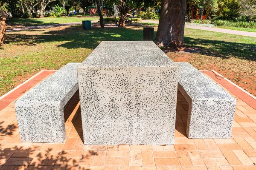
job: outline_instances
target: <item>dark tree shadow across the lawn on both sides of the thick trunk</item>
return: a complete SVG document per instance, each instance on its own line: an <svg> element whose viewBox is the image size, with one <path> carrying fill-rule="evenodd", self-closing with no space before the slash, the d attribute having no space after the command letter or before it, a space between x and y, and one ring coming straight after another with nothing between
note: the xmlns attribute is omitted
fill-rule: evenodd
<svg viewBox="0 0 256 170"><path fill-rule="evenodd" d="M70 26L43 34L11 33L6 35L6 44L36 45L44 42L57 42L57 47L74 49L94 49L101 41L139 41L143 40L143 30L132 28L93 28L83 30L81 26ZM156 34L156 32L155 32ZM63 42L63 43L58 43ZM55 44L54 44L55 45ZM195 52L212 57L236 57L239 59L256 60L256 45L250 43L227 42L202 38L184 37L184 45L197 48Z"/></svg>

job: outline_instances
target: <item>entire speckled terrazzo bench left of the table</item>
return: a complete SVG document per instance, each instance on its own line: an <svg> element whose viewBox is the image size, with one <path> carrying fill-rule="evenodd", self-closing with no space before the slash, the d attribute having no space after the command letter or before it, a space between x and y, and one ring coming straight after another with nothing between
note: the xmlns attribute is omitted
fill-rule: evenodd
<svg viewBox="0 0 256 170"><path fill-rule="evenodd" d="M79 64L68 63L15 101L21 142L65 142L64 106L78 90Z"/></svg>

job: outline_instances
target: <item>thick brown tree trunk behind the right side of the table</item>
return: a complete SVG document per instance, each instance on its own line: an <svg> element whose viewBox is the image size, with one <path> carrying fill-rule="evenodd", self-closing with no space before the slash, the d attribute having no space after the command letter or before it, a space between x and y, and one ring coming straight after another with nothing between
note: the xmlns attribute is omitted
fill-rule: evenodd
<svg viewBox="0 0 256 170"><path fill-rule="evenodd" d="M159 46L183 46L186 0L162 0L157 36Z"/></svg>

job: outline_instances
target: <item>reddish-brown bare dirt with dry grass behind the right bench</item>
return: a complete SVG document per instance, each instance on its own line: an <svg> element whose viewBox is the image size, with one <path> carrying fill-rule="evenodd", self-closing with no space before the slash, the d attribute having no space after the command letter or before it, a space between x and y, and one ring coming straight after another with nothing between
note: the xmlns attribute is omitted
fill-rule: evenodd
<svg viewBox="0 0 256 170"><path fill-rule="evenodd" d="M191 51L195 52L192 53ZM214 70L227 79L239 85L241 88L256 96L256 63L254 61L239 61L240 65L233 65L236 59L227 59L228 62L218 61L211 56L198 56L197 49L183 48L177 50L166 50L166 54L175 62L189 62L198 70ZM246 67L244 67L246 66ZM233 69L230 69L233 67ZM235 71L234 71L235 70Z"/></svg>

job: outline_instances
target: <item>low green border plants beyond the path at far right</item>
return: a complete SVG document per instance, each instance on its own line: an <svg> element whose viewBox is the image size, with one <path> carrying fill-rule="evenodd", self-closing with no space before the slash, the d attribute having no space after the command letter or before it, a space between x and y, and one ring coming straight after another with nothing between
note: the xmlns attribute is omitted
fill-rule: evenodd
<svg viewBox="0 0 256 170"><path fill-rule="evenodd" d="M256 22L244 22L244 21L227 21L227 20L214 20L212 22L215 26L223 27L239 27L239 28L256 28Z"/></svg>

